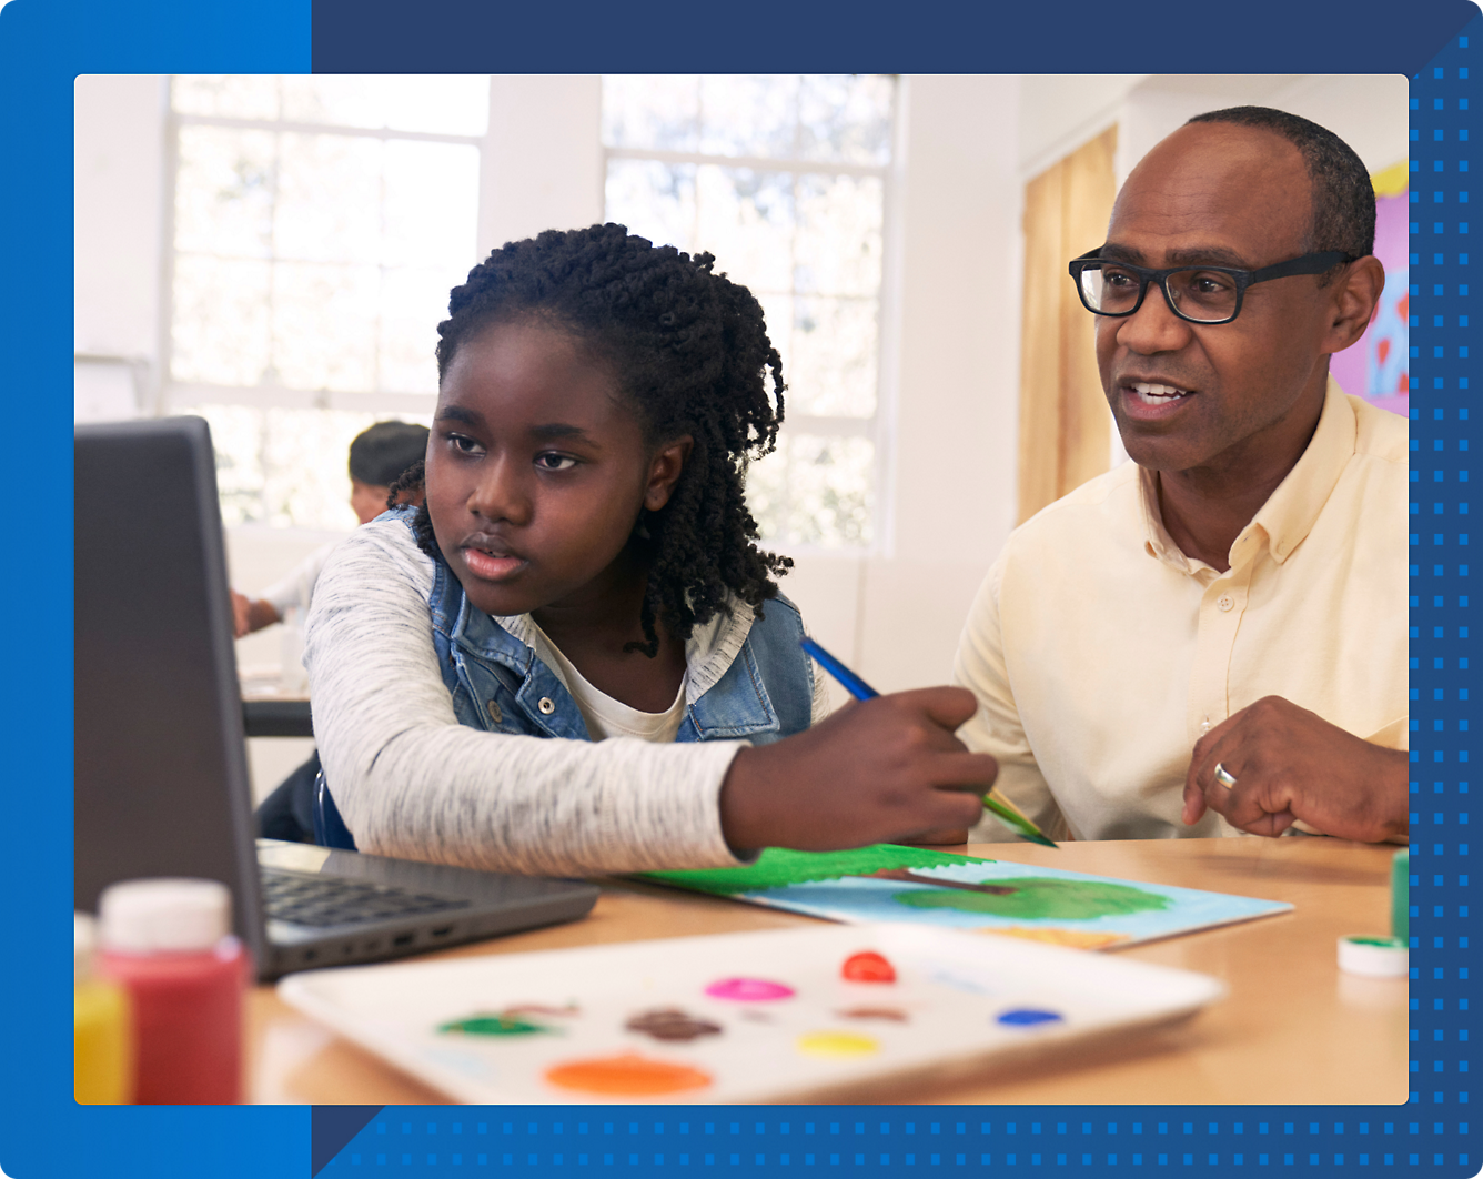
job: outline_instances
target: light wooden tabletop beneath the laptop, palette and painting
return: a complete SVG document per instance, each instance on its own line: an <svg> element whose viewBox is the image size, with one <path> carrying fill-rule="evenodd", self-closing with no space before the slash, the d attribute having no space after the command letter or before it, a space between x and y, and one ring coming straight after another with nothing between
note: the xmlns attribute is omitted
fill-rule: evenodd
<svg viewBox="0 0 1483 1179"><path fill-rule="evenodd" d="M1223 979L1231 994L1145 1041L1086 1050L1013 1075L985 1075L900 1103L1364 1103L1406 1100L1406 980L1341 974L1336 939L1390 931L1394 848L1339 839L1151 839L970 845L970 854L1126 879L1292 902L1241 925L1172 937L1132 958ZM443 951L515 954L650 937L779 928L811 918L602 881L583 921ZM446 1099L282 1004L271 988L249 1003L251 1099L365 1105Z"/></svg>

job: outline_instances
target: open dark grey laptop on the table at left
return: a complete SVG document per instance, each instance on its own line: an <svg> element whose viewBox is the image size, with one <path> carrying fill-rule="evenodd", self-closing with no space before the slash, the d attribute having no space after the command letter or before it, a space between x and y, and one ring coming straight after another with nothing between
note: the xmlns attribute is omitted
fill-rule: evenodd
<svg viewBox="0 0 1483 1179"><path fill-rule="evenodd" d="M74 442L74 908L123 879L221 881L262 979L592 909L581 881L255 839L206 423L85 424Z"/></svg>

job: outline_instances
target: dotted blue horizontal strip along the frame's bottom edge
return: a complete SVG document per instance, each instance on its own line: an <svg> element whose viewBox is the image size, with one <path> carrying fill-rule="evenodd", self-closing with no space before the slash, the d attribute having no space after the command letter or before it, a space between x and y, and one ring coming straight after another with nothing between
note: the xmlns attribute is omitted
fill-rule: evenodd
<svg viewBox="0 0 1483 1179"><path fill-rule="evenodd" d="M780 1169L845 1169L899 1175L925 1167L952 1173L983 1169L1090 1167L1097 1176L1198 1166L1304 1166L1307 1175L1354 1175L1361 1167L1425 1166L1431 1175L1467 1175L1465 1151L1443 1151L1467 1123L1422 1121L1406 1106L1376 1111L1255 1109L1231 1115L1209 1108L1129 1111L1081 1106L1050 1111L967 1108L814 1106L786 1114L755 1108L429 1111L389 1106L325 1167L323 1176L469 1167L523 1175L727 1175ZM1336 1120L1338 1118L1338 1120ZM1452 1145L1452 1143L1449 1143ZM1474 1155L1477 1158L1477 1155ZM1318 1169L1318 1170L1314 1170Z"/></svg>

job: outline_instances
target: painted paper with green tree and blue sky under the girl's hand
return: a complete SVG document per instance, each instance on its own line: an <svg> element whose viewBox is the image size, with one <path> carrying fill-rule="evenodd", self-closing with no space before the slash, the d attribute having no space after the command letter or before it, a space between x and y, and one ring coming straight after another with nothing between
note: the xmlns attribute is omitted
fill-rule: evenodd
<svg viewBox="0 0 1483 1179"><path fill-rule="evenodd" d="M894 844L767 848L747 868L654 872L645 879L830 921L914 921L1080 949L1132 946L1292 909L1277 900Z"/></svg>

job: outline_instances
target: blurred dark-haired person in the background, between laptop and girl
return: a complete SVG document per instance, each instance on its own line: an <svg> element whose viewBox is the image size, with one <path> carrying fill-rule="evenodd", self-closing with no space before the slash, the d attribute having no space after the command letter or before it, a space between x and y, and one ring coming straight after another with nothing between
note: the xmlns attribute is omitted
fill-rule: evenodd
<svg viewBox="0 0 1483 1179"><path fill-rule="evenodd" d="M427 427L411 421L378 421L362 430L350 443L350 510L356 524L374 521L386 512L392 483L408 467L421 463L427 452ZM280 623L291 610L307 611L314 581L338 540L320 546L261 598L231 592L234 638Z"/></svg>

